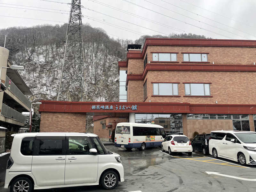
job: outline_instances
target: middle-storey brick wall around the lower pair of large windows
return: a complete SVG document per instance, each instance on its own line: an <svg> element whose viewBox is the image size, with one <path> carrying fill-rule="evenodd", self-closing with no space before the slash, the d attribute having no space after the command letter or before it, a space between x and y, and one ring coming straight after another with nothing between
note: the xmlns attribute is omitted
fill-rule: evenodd
<svg viewBox="0 0 256 192"><path fill-rule="evenodd" d="M255 72L233 72L233 71L148 71L146 102L188 102L193 104L255 104L256 86L253 81ZM130 81L128 89L136 89L135 81ZM180 82L178 84L180 97L152 97L153 84L151 82ZM212 97L183 97L185 95L185 85L182 82L205 82L210 84ZM143 86L140 86L141 91ZM130 101L130 100L128 100ZM132 101L141 101L135 98Z"/></svg>

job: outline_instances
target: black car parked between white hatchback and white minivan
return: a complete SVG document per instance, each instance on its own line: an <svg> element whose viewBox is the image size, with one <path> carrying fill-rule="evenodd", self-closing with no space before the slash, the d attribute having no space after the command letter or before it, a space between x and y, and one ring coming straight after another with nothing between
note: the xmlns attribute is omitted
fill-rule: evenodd
<svg viewBox="0 0 256 192"><path fill-rule="evenodd" d="M209 153L209 138L211 134L199 134L191 141L193 151L203 152L204 155Z"/></svg>

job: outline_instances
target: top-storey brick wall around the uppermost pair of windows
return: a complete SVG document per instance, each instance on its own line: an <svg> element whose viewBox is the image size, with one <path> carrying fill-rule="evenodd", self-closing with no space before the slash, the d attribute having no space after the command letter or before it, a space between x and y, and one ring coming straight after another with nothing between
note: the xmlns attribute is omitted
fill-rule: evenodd
<svg viewBox="0 0 256 192"><path fill-rule="evenodd" d="M148 61L153 60L150 52L179 52L177 60L180 62L183 61L181 52L209 52L208 61L214 64L253 65L256 62L255 51L255 47L148 46L146 52Z"/></svg>

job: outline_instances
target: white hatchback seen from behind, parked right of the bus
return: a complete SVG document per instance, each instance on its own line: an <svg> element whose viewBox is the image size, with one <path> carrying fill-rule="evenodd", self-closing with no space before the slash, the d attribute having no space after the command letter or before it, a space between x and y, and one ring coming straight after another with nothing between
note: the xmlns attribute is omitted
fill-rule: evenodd
<svg viewBox="0 0 256 192"><path fill-rule="evenodd" d="M162 151L168 151L169 155L175 152L186 152L191 156L192 150L191 141L185 135L168 135L162 142Z"/></svg>

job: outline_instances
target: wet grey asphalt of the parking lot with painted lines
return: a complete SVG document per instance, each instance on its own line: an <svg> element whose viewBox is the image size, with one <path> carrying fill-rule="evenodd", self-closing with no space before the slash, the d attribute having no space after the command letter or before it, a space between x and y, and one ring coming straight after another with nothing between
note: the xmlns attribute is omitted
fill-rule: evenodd
<svg viewBox="0 0 256 192"><path fill-rule="evenodd" d="M113 190L104 190L100 186L57 188L36 190L38 192L241 192L255 191L255 181L240 180L206 172L219 172L256 180L256 166L240 166L226 159L214 159L201 153L179 153L173 156L161 151L161 148L147 148L145 151L133 149L131 152L115 146L106 146L109 151L123 157L124 182ZM0 188L1 192L8 189Z"/></svg>

